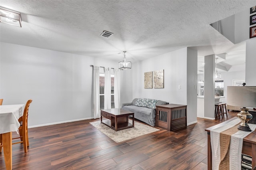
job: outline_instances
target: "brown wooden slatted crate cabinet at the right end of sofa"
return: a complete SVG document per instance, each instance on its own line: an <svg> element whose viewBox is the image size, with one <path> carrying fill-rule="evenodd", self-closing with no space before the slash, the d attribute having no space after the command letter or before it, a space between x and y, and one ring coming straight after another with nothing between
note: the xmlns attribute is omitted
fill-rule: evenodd
<svg viewBox="0 0 256 170"><path fill-rule="evenodd" d="M168 104L156 106L156 127L171 131L186 126L186 105Z"/></svg>

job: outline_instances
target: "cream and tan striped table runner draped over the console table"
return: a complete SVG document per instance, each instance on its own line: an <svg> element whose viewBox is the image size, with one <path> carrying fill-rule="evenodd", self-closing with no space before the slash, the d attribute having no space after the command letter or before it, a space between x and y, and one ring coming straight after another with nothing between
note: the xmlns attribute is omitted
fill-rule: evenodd
<svg viewBox="0 0 256 170"><path fill-rule="evenodd" d="M218 127L210 131L213 170L241 170L243 138L251 132L237 130L239 124L240 119L237 118L222 127ZM251 130L255 130L256 124L248 125ZM230 134L230 142L225 143ZM228 149L226 147L228 147ZM227 162L229 164L226 164Z"/></svg>

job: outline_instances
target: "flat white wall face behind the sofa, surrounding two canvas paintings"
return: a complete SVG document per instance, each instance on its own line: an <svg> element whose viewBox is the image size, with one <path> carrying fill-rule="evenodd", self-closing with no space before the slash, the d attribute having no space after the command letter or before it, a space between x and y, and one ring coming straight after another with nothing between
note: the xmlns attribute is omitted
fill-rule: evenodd
<svg viewBox="0 0 256 170"><path fill-rule="evenodd" d="M132 98L150 98L186 105L186 57L187 48L182 48L134 63ZM164 69L164 88L154 89L153 83L152 89L144 89L144 73L161 69ZM178 85L181 85L181 89L178 89Z"/></svg>

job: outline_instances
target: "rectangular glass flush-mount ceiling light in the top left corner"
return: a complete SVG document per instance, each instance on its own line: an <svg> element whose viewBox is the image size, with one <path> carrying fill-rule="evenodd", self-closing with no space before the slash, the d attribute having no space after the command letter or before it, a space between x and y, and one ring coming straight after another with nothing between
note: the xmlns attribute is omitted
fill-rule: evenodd
<svg viewBox="0 0 256 170"><path fill-rule="evenodd" d="M0 22L21 27L20 12L9 10L7 8L0 7Z"/></svg>

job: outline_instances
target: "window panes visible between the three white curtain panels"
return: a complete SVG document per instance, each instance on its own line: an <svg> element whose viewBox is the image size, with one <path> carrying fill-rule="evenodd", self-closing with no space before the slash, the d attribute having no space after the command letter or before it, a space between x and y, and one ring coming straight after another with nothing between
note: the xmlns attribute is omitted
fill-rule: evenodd
<svg viewBox="0 0 256 170"><path fill-rule="evenodd" d="M104 109L104 87L105 87L105 74L100 73L100 110ZM111 74L111 108L114 105L114 74Z"/></svg>

